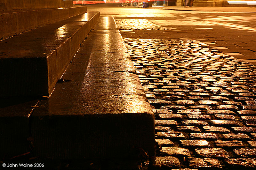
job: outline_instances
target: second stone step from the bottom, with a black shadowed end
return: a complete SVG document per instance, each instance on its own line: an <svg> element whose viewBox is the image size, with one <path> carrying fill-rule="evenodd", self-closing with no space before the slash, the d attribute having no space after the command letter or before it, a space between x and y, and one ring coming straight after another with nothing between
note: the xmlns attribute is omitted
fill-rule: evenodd
<svg viewBox="0 0 256 170"><path fill-rule="evenodd" d="M89 11L0 41L0 96L49 96L99 16Z"/></svg>

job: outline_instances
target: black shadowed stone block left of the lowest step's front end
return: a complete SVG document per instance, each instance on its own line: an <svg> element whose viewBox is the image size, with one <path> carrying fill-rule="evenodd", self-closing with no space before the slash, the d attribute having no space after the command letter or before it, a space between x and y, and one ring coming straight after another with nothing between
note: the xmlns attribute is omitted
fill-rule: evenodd
<svg viewBox="0 0 256 170"><path fill-rule="evenodd" d="M0 159L10 159L14 156L30 152L29 150L29 120L28 114L38 100L0 99ZM15 105L13 105L15 103Z"/></svg>

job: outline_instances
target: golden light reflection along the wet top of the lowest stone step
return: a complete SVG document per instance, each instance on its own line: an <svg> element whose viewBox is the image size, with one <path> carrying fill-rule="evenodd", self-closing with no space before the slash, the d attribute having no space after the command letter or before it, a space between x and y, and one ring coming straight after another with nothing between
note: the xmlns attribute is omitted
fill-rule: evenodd
<svg viewBox="0 0 256 170"><path fill-rule="evenodd" d="M110 17L103 17L104 28L111 28ZM140 80L129 59L129 54L122 39L116 38L116 33L102 34L99 46L93 46L92 51L103 51L104 55L92 53L88 62L82 85L82 100L88 100L98 105L94 112L99 113L148 113L150 109L145 93L140 85ZM122 41L121 41L122 40ZM116 54L120 49L120 54ZM113 53L113 51L115 51ZM103 53L102 52L102 53ZM82 106L81 106L82 107ZM142 109L143 108L143 109Z"/></svg>

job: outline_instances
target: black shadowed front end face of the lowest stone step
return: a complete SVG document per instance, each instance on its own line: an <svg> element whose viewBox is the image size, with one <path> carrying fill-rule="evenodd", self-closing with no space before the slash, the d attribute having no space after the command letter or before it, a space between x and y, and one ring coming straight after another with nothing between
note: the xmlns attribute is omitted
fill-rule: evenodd
<svg viewBox="0 0 256 170"><path fill-rule="evenodd" d="M35 152L43 158L134 158L142 148L154 155L152 115L36 115L31 120Z"/></svg>

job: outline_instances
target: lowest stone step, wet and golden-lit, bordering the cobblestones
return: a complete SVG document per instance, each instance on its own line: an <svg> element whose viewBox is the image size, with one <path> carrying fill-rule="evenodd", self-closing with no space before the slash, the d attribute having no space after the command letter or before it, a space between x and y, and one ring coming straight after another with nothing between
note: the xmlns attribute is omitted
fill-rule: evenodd
<svg viewBox="0 0 256 170"><path fill-rule="evenodd" d="M113 17L100 17L64 82L30 116L35 151L53 159L155 155L154 115Z"/></svg>

